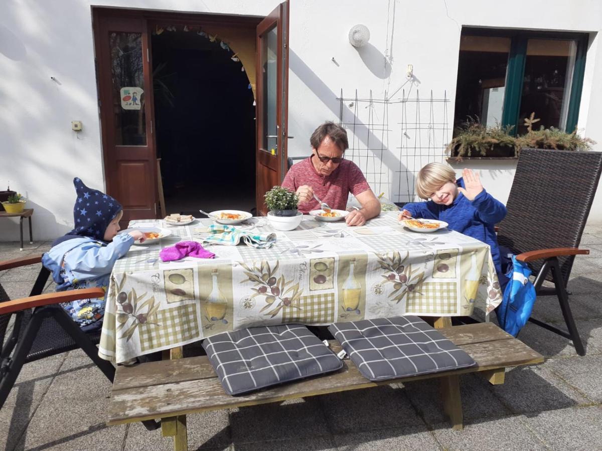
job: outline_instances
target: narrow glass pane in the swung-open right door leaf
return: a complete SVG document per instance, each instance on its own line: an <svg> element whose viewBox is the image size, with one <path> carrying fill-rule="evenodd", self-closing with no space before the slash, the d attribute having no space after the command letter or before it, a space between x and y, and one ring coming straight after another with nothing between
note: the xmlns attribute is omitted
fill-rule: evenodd
<svg viewBox="0 0 602 451"><path fill-rule="evenodd" d="M278 34L276 27L262 36L262 71L263 71L263 145L268 152L278 153L278 129L276 124L276 58L278 57Z"/></svg>

